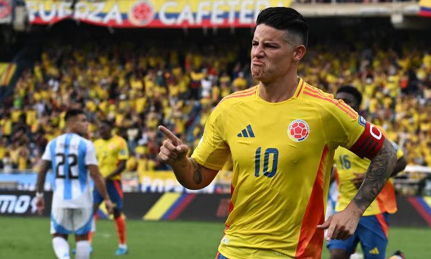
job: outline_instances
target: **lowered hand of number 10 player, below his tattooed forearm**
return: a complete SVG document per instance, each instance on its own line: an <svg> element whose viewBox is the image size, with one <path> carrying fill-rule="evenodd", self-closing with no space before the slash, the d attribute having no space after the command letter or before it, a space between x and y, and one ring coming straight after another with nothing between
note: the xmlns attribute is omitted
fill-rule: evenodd
<svg viewBox="0 0 431 259"><path fill-rule="evenodd" d="M326 229L326 240L347 240L355 233L361 214L346 207L345 210L329 217L317 228Z"/></svg>

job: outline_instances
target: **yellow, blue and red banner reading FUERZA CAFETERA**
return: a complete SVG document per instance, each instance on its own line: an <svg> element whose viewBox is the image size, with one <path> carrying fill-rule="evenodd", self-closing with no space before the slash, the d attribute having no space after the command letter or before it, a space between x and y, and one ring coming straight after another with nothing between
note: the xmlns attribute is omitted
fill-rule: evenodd
<svg viewBox="0 0 431 259"><path fill-rule="evenodd" d="M112 27L200 28L250 27L259 11L291 6L292 0L26 0L31 24L63 19Z"/></svg>

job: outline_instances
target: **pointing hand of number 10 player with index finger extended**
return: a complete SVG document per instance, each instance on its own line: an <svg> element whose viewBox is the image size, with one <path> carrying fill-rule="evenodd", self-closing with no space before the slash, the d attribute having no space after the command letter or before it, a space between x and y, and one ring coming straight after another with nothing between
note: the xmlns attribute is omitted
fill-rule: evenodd
<svg viewBox="0 0 431 259"><path fill-rule="evenodd" d="M158 130L168 138L163 141L158 157L171 166L172 164L181 162L187 155L188 146L183 144L183 142L167 128L158 126Z"/></svg>

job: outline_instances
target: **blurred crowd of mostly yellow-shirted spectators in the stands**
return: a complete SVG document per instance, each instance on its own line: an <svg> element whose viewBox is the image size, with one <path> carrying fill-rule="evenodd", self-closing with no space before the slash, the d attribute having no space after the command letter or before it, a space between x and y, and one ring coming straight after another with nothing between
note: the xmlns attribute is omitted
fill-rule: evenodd
<svg viewBox="0 0 431 259"><path fill-rule="evenodd" d="M0 110L0 168L36 170L47 142L61 134L65 111L85 109L90 139L107 119L128 141L129 171L166 169L158 125L195 147L209 113L230 93L257 84L235 47L172 50L120 45L45 47ZM336 50L335 50L336 49ZM246 52L246 50L245 50ZM353 85L367 120L382 125L408 164L431 166L431 53L425 49L313 46L300 63L305 81L334 93Z"/></svg>

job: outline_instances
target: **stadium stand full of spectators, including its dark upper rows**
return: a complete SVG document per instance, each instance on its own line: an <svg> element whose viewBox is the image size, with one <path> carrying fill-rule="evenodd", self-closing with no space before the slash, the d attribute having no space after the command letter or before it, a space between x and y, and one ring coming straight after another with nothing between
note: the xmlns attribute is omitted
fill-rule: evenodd
<svg viewBox="0 0 431 259"><path fill-rule="evenodd" d="M342 28L339 21L311 20L314 31L300 74L330 93L343 84L359 88L367 120L389 132L409 165L431 166L429 36L395 31L380 19L344 19ZM88 112L91 139L103 118L127 139L133 154L129 171L167 170L156 156L157 125L195 147L222 97L257 84L249 72L250 29L143 33L66 20L32 30L14 44L26 49L21 54L31 65L17 69L16 84L7 86L13 94L0 105L5 173L37 170L44 146L64 127L65 110L78 107ZM423 174L408 177L419 180Z"/></svg>

